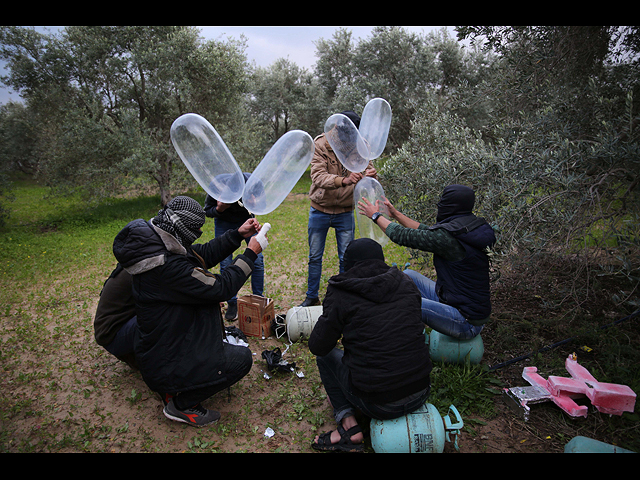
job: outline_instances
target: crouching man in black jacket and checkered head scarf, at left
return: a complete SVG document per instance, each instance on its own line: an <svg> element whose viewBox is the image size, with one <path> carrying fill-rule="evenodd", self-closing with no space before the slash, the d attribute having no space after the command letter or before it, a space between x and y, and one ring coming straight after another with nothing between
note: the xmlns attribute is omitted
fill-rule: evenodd
<svg viewBox="0 0 640 480"><path fill-rule="evenodd" d="M204 244L205 213L189 197L176 197L151 221L130 222L115 238L113 252L132 275L138 331L135 358L149 388L172 398L167 418L189 425L215 422L220 414L201 402L244 377L251 351L223 342L220 301L245 283L262 251L255 237L219 275L209 268L260 230L256 219Z"/></svg>

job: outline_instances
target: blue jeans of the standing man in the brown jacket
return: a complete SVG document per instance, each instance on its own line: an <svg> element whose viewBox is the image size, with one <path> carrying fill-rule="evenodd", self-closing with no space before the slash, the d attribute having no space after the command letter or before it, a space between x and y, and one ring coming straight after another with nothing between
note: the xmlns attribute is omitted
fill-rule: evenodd
<svg viewBox="0 0 640 480"><path fill-rule="evenodd" d="M355 220L353 212L323 213L311 207L309 211L309 277L307 279L307 297L318 298L320 277L322 276L322 257L329 228L336 231L340 273L344 272L344 252L353 240Z"/></svg>

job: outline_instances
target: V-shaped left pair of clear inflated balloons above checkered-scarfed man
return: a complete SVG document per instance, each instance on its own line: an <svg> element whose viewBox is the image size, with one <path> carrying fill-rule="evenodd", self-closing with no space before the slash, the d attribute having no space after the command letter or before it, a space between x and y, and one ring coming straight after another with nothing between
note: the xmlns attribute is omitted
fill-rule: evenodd
<svg viewBox="0 0 640 480"><path fill-rule="evenodd" d="M246 184L235 158L211 124L195 113L171 125L171 142L200 186L213 198L234 203L242 198L255 215L275 210L300 180L313 157L311 136L285 133L271 147Z"/></svg>

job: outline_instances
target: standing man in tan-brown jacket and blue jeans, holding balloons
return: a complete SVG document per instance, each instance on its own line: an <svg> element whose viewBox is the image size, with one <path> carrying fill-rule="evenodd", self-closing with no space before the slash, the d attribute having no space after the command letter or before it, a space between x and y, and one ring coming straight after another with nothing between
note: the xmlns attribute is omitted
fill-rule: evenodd
<svg viewBox="0 0 640 480"><path fill-rule="evenodd" d="M355 112L341 113L349 117L356 128L359 127L360 117ZM300 305L302 307L320 303L318 290L329 228L335 229L340 273L344 272L344 251L353 240L355 230L353 190L363 176L377 178L376 169L371 162L363 173L347 170L338 160L324 134L317 136L314 143L309 190L309 273L306 298Z"/></svg>

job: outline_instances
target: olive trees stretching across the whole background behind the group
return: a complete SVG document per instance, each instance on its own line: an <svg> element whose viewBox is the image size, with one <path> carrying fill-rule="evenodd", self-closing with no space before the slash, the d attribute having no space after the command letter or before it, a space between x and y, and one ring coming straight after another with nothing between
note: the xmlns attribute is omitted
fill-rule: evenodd
<svg viewBox="0 0 640 480"><path fill-rule="evenodd" d="M464 26L459 39L479 43L463 48L446 31L376 27L356 44L338 29L317 41L310 73L285 59L250 69L244 39L204 42L194 27L5 26L4 81L27 103L0 116L0 159L55 193L155 185L165 203L197 188L169 141L180 114L205 116L251 171L287 130L315 136L329 114L379 96L393 109L381 179L405 213L430 223L442 188L469 184L499 234L496 266L573 256L587 282L622 276L632 291L638 36L633 26Z"/></svg>

